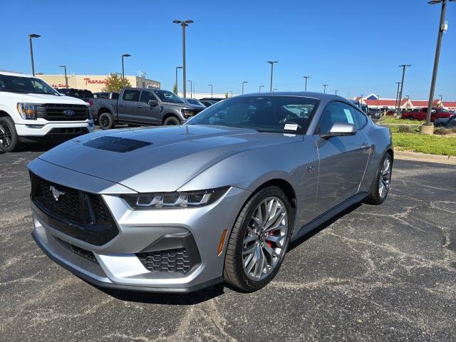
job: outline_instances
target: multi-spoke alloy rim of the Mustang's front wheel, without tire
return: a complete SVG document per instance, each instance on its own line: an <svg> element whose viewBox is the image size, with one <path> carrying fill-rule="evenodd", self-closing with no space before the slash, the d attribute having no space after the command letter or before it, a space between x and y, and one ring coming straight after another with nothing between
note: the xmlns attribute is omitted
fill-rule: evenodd
<svg viewBox="0 0 456 342"><path fill-rule="evenodd" d="M285 204L278 197L264 199L254 210L242 242L242 265L249 279L259 281L274 271L285 254L288 225Z"/></svg>

